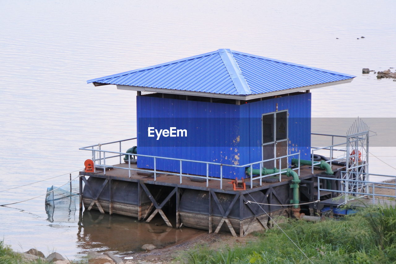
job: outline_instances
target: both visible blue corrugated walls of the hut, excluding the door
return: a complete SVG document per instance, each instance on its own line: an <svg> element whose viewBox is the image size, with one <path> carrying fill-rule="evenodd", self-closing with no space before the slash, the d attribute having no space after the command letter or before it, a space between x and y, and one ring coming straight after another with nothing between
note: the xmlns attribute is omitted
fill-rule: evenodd
<svg viewBox="0 0 396 264"><path fill-rule="evenodd" d="M267 99L242 105L137 97L138 153L215 163L243 165L260 161L261 115L289 110L289 153L310 156L310 94ZM187 138L147 136L147 128L187 129ZM139 157L139 168L154 168L152 158ZM206 175L206 165L182 163L183 173ZM157 170L179 172L179 161L157 159ZM242 177L244 168L223 167L224 178ZM209 176L220 176L209 165Z"/></svg>

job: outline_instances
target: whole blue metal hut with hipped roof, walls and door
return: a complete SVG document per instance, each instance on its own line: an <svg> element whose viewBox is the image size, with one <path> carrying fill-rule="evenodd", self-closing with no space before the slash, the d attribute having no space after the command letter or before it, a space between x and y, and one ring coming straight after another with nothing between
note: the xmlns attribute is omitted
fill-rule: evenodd
<svg viewBox="0 0 396 264"><path fill-rule="evenodd" d="M309 90L353 78L220 49L88 83L138 91L139 154L244 165L293 153L310 159ZM289 163L283 159L282 167ZM137 166L152 169L153 159L139 157ZM156 169L177 172L179 163L157 159ZM183 162L183 173L206 170L205 164ZM225 167L223 177L240 178L244 170ZM214 165L209 176L219 176Z"/></svg>

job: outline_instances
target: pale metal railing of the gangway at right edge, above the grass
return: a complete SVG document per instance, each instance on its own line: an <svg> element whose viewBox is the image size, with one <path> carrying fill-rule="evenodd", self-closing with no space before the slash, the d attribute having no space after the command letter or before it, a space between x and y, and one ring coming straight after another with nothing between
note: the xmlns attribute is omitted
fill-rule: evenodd
<svg viewBox="0 0 396 264"><path fill-rule="evenodd" d="M373 200L373 204L375 204L375 196L379 197L389 197L389 198L394 198L396 199L396 176L393 175L384 175L384 174L370 174L371 176L383 176L383 177L391 177L394 178L395 183L390 183L390 182L369 182L369 181L362 181L362 180L351 180L351 179L340 179L340 178L328 178L328 177L318 177L318 200L320 200L320 191L331 191L333 193L341 193L343 194L344 201L343 203L340 203L339 205L346 204L348 201L362 198L362 197L371 197ZM368 175L366 175L367 177ZM333 189L324 189L320 187L320 180L334 180L334 181L339 181L342 188L340 190L333 190ZM365 189L366 191L351 191L350 190L350 185L358 185L361 184L361 188ZM379 185L385 185L385 186L379 186ZM365 188L365 187L371 187L370 188ZM394 189L395 194L394 195L386 195L386 194L380 194L376 193L375 189ZM356 187L355 189L359 189ZM360 195L360 196L358 196Z"/></svg>

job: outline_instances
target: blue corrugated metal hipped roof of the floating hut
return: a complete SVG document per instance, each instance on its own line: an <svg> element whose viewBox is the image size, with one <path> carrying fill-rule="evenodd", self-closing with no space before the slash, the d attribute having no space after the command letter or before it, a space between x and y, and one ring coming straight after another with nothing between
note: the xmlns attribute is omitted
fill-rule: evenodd
<svg viewBox="0 0 396 264"><path fill-rule="evenodd" d="M253 95L349 80L355 76L229 49L196 55L87 83L225 95ZM325 86L325 85L324 85Z"/></svg>

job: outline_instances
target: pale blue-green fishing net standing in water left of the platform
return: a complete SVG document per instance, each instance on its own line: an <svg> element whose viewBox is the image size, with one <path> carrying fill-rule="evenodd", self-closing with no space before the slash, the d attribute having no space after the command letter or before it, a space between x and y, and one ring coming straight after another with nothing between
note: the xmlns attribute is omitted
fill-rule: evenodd
<svg viewBox="0 0 396 264"><path fill-rule="evenodd" d="M49 222L78 221L76 210L79 207L80 195L74 193L75 188L71 191L56 186L47 188L46 212Z"/></svg>

